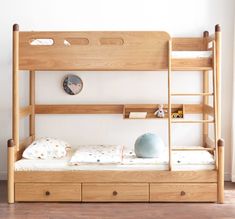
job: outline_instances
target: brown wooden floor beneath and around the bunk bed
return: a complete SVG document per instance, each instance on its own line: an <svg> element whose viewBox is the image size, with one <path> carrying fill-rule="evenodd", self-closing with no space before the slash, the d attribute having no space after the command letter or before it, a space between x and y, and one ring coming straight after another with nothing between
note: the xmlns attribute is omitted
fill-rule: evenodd
<svg viewBox="0 0 235 219"><path fill-rule="evenodd" d="M225 184L225 204L209 203L16 203L7 204L0 181L1 219L235 219L235 183Z"/></svg>

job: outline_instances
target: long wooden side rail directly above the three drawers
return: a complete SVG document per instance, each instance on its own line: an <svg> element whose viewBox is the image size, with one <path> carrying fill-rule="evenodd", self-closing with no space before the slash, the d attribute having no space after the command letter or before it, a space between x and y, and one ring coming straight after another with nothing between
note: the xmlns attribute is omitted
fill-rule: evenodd
<svg viewBox="0 0 235 219"><path fill-rule="evenodd" d="M15 182L217 182L217 171L15 171Z"/></svg>

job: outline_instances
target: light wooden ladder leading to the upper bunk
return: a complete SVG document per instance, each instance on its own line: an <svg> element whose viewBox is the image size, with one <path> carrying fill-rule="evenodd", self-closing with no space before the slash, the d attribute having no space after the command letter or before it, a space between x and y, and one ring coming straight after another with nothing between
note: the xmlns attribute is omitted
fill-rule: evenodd
<svg viewBox="0 0 235 219"><path fill-rule="evenodd" d="M217 153L217 139L218 139L218 127L217 127L217 89L216 89L216 46L215 41L212 42L212 58L213 58L213 66L212 66L212 83L213 83L213 92L212 93L171 93L171 73L172 73L172 41L170 40L168 43L168 144L169 144L169 170L172 170L172 151L213 151L215 154L216 168L218 166L218 153ZM171 116L171 97L172 96L213 96L213 109L214 115L213 119L201 119L201 120L186 120L186 119L177 119L172 118ZM204 110L204 109L203 109ZM199 148L199 147L181 147L181 148L173 148L172 147L172 123L213 123L214 124L214 148Z"/></svg>

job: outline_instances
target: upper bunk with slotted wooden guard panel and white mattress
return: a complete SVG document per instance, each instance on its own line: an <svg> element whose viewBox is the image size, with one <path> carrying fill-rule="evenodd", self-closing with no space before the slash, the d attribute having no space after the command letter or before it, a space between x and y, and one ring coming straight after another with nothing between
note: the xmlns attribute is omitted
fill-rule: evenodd
<svg viewBox="0 0 235 219"><path fill-rule="evenodd" d="M34 71L210 70L214 37L162 31L25 32L14 25L18 69ZM169 61L170 59L170 61Z"/></svg>

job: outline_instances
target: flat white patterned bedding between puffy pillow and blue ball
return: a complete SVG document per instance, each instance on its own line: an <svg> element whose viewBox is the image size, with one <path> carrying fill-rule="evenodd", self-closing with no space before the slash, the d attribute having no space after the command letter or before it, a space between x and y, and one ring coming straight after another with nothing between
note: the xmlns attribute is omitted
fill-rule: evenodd
<svg viewBox="0 0 235 219"><path fill-rule="evenodd" d="M83 145L78 146L69 161L70 165L79 164L116 164L122 162L123 146L120 145Z"/></svg>

